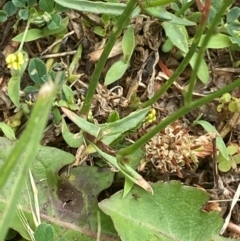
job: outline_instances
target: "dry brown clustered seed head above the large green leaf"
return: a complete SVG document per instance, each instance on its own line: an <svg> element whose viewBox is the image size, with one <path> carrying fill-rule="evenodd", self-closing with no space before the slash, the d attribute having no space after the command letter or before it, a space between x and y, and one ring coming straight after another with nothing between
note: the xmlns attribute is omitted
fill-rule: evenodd
<svg viewBox="0 0 240 241"><path fill-rule="evenodd" d="M206 134L196 138L189 135L184 127L174 123L145 145L145 153L145 161L139 166L140 171L150 162L161 173L177 172L185 165L197 164L199 157L212 154L212 137Z"/></svg>

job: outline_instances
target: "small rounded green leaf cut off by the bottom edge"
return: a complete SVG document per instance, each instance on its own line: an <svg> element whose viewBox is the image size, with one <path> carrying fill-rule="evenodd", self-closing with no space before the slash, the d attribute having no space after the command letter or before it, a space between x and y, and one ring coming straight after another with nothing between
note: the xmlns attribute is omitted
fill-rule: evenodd
<svg viewBox="0 0 240 241"><path fill-rule="evenodd" d="M52 225L41 223L34 232L36 241L54 241L54 230Z"/></svg>

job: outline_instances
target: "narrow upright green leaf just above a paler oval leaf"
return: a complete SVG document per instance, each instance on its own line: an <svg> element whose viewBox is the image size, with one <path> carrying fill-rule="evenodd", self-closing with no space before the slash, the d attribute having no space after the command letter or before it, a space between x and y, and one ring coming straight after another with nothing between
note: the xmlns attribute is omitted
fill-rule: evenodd
<svg viewBox="0 0 240 241"><path fill-rule="evenodd" d="M129 63L134 48L135 48L134 27L131 25L127 28L122 39L124 63Z"/></svg>

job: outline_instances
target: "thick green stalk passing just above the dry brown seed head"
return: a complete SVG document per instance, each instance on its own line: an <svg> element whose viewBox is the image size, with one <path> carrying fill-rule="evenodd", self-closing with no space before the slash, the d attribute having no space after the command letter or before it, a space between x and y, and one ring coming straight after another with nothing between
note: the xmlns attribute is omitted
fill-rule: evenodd
<svg viewBox="0 0 240 241"><path fill-rule="evenodd" d="M145 145L153 136L155 136L157 133L162 131L169 124L178 120L180 117L182 117L185 114L189 113L190 111L196 109L197 107L205 105L205 104L209 103L210 101L214 100L215 98L222 96L224 93L234 90L235 88L237 88L239 86L240 86L240 78L236 79L233 83L225 86L221 90L215 91L214 93L212 93L206 97L195 100L195 101L191 102L188 106L181 107L175 113L173 113L169 117L162 120L161 123L159 123L156 127L154 127L152 130L150 130L147 134L142 136L134 144L119 150L118 155L123 157L123 156L127 156L127 155L135 152L136 150L141 148L143 145Z"/></svg>

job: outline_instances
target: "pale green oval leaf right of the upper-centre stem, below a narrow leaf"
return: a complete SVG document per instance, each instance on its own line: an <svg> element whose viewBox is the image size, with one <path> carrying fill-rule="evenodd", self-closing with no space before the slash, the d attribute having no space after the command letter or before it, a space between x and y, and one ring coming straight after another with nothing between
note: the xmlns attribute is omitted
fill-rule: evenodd
<svg viewBox="0 0 240 241"><path fill-rule="evenodd" d="M121 60L115 62L106 74L104 85L110 85L116 80L120 79L124 75L128 67L129 63L124 63Z"/></svg>

